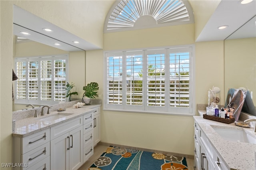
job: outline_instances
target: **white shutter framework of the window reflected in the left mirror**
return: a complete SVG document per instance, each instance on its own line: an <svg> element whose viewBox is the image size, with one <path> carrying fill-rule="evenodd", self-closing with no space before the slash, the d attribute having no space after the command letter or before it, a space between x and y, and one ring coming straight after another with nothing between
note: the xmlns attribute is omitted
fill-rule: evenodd
<svg viewBox="0 0 256 170"><path fill-rule="evenodd" d="M38 55L38 56L29 56L29 57L15 57L14 59L14 70L15 72L17 71L17 62L19 61L25 61L26 62L26 99L16 99L16 86L17 86L17 81L13 81L13 93L14 93L14 103L15 104L33 104L33 105L54 105L54 104L58 104L61 101L65 101L66 102L66 97L64 100L61 101L54 101L56 95L54 95L55 93L55 67L53 67L53 65L55 64L54 61L56 60L66 60L65 61L65 77L64 77L64 81L65 81L65 87L66 87L66 82L68 81L68 54L58 54L58 55ZM38 61L38 99L37 100L30 100L28 98L28 79L29 79L29 75L28 75L28 66L29 66L29 62L30 61ZM54 86L53 88L51 88L51 100L42 100L42 95L41 95L41 90L40 87L42 85L42 77L41 77L41 72L42 72L42 65L41 65L41 61L51 61L51 87ZM47 81L47 80L46 80ZM63 81L63 80L62 80ZM65 91L65 95L66 95L66 91ZM58 96L58 95L57 95Z"/></svg>

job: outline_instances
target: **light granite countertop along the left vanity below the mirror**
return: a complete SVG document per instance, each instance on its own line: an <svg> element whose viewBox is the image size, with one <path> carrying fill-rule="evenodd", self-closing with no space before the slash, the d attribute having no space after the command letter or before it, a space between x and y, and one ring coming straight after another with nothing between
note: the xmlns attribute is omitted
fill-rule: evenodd
<svg viewBox="0 0 256 170"><path fill-rule="evenodd" d="M66 111L52 111L50 115L44 115L41 116L38 113L38 117L28 117L25 119L20 119L17 121L14 121L12 124L12 136L15 137L25 137L29 136L31 134L34 134L36 132L45 130L50 127L54 127L56 125L59 125L61 123L64 123L66 121L70 121L72 119L75 119L77 117L80 117L86 113L89 113L90 111L93 111L96 107L100 107L101 105L87 105L82 106L77 109L73 109L72 107L66 108ZM57 115L58 113L72 113L72 115L68 115L66 117L62 117L61 119L57 119L54 121L43 121L40 119L50 117L53 115Z"/></svg>

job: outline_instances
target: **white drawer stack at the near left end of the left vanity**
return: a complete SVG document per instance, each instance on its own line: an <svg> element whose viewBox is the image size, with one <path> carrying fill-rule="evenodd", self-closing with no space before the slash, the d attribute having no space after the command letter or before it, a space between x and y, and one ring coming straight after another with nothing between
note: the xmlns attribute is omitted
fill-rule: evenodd
<svg viewBox="0 0 256 170"><path fill-rule="evenodd" d="M13 137L14 163L21 163L14 169L33 169L40 163L43 169L50 167L50 129L26 137Z"/></svg>

